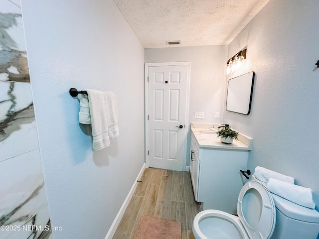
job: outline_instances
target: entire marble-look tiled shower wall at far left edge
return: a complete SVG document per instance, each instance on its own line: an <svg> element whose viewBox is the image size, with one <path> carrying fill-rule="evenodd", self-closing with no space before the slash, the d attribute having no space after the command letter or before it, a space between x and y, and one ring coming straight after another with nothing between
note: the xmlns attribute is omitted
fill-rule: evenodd
<svg viewBox="0 0 319 239"><path fill-rule="evenodd" d="M0 0L0 175L0 239L52 239L19 0Z"/></svg>

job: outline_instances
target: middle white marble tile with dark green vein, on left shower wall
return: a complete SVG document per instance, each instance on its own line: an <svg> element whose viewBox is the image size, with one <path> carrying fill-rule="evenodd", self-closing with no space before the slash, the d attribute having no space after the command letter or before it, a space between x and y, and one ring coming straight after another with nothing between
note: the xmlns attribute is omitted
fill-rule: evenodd
<svg viewBox="0 0 319 239"><path fill-rule="evenodd" d="M0 81L0 162L38 147L30 84Z"/></svg>

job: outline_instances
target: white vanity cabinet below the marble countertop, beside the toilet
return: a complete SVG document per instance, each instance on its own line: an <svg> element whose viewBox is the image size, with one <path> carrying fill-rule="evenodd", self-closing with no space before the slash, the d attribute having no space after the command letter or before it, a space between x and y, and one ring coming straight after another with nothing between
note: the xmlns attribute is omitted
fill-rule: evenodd
<svg viewBox="0 0 319 239"><path fill-rule="evenodd" d="M191 132L190 176L195 200L204 210L237 213L238 195L246 182L240 170L247 170L249 150L202 147Z"/></svg>

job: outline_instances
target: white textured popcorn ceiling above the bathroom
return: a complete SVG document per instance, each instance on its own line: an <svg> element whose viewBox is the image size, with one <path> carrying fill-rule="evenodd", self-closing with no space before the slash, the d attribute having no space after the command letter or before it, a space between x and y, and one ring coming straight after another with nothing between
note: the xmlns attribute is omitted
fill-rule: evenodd
<svg viewBox="0 0 319 239"><path fill-rule="evenodd" d="M114 0L145 48L229 44L269 0Z"/></svg>

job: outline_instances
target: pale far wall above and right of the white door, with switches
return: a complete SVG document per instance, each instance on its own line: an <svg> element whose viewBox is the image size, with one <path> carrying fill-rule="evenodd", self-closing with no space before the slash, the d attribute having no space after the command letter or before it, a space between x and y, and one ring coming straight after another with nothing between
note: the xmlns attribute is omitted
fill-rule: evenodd
<svg viewBox="0 0 319 239"><path fill-rule="evenodd" d="M220 122L223 115L227 46L195 46L146 48L145 62L190 62L190 89L188 123ZM204 119L194 119L194 112L204 112ZM215 119L215 112L220 118ZM187 148L190 144L188 132ZM189 165L189 150L186 165Z"/></svg>

